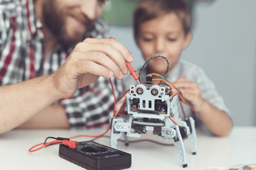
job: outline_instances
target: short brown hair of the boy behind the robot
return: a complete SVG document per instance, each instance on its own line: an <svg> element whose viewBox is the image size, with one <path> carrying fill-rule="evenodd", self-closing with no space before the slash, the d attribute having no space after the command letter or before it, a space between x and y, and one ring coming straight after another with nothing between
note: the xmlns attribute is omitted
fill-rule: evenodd
<svg viewBox="0 0 256 170"><path fill-rule="evenodd" d="M191 29L191 11L183 0L139 0L133 13L134 36L138 35L139 26L159 16L175 13L182 22L185 35Z"/></svg>

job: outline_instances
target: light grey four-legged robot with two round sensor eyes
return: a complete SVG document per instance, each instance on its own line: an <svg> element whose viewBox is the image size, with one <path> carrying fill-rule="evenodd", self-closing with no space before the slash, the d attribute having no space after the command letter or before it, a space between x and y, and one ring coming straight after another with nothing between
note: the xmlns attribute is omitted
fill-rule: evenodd
<svg viewBox="0 0 256 170"><path fill-rule="evenodd" d="M117 139L121 135L128 145L128 137L141 137L141 133L153 131L160 140L173 140L174 146L179 150L182 166L185 168L187 163L183 140L190 138L192 153L195 155L195 121L192 117L185 120L179 118L179 95L170 96L166 91L165 87L152 83L131 85L130 92L126 94L127 116L110 118L110 146L117 148Z"/></svg>

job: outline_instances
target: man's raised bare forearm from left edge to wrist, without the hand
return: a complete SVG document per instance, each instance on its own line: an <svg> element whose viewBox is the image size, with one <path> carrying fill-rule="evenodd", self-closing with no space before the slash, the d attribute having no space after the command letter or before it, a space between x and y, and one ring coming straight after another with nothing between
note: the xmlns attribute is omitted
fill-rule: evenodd
<svg viewBox="0 0 256 170"><path fill-rule="evenodd" d="M0 133L9 131L42 111L60 95L53 75L0 87Z"/></svg>

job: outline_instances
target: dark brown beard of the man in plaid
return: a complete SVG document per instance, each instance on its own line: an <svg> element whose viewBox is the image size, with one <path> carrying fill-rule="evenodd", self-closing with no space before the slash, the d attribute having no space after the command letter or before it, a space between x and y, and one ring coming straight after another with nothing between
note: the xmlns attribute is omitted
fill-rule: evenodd
<svg viewBox="0 0 256 170"><path fill-rule="evenodd" d="M74 36L70 36L65 27L65 17L67 17L67 13L63 13L63 11L58 9L55 0L45 0L43 2L42 12L43 23L52 35L57 38L58 44L61 44L63 47L69 47L83 41L85 34L90 31L94 25L94 21L89 20L88 17L84 15L82 17L85 23L84 31L75 31Z"/></svg>

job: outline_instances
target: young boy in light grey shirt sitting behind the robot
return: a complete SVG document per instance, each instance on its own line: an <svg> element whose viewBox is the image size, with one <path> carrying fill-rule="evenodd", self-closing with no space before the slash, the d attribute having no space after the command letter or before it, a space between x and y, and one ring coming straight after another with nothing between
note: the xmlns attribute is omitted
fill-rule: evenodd
<svg viewBox="0 0 256 170"><path fill-rule="evenodd" d="M186 100L181 103L184 114L193 116L196 124L202 122L214 135L227 136L233 124L223 98L201 68L180 59L182 50L192 39L191 12L186 2L139 0L133 19L135 41L145 61L154 56L168 60L165 78L181 90ZM141 83L150 73L163 76L167 69L166 59L151 59L140 72ZM126 90L136 84L132 76L126 77L124 82Z"/></svg>

